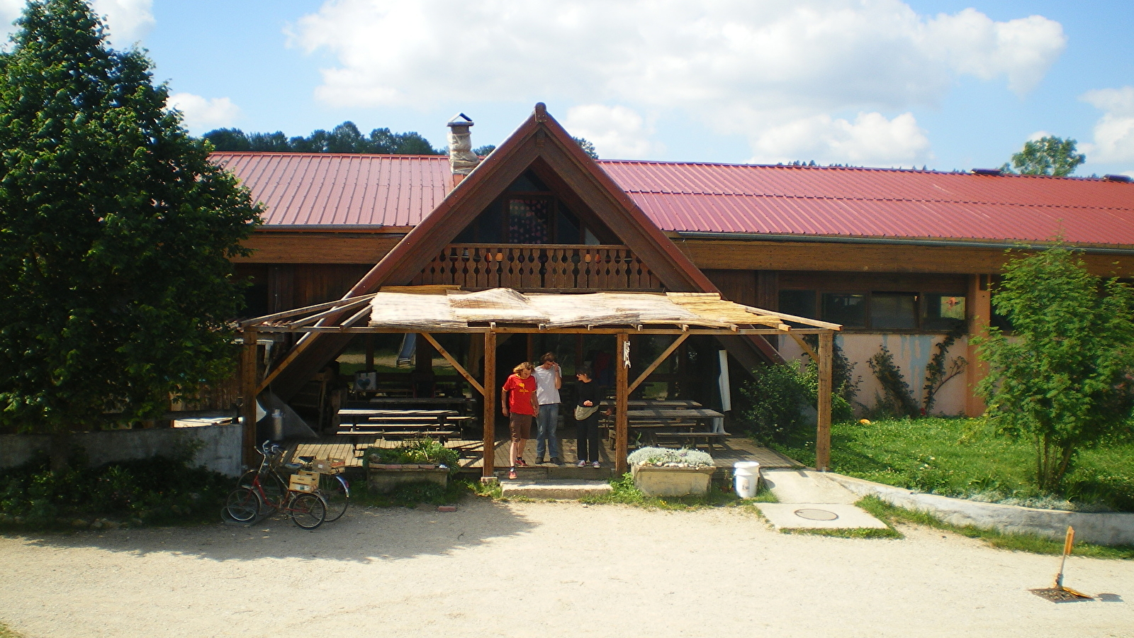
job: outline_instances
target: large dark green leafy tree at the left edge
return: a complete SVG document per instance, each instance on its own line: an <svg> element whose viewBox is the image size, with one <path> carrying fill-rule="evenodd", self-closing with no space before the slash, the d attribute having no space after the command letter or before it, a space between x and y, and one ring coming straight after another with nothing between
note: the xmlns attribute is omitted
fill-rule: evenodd
<svg viewBox="0 0 1134 638"><path fill-rule="evenodd" d="M232 371L229 258L260 220L137 50L33 0L0 53L0 425L144 419Z"/></svg>

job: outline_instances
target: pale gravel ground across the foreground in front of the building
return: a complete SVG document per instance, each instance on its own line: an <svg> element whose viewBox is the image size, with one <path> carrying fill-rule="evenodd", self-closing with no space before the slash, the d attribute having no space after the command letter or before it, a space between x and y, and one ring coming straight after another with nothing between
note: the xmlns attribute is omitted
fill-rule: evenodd
<svg viewBox="0 0 1134 638"><path fill-rule="evenodd" d="M211 636L1134 636L1134 562L923 528L788 536L736 510L466 503L358 510L306 532L0 537L0 620L29 638ZM1119 599L1116 599L1119 598Z"/></svg>

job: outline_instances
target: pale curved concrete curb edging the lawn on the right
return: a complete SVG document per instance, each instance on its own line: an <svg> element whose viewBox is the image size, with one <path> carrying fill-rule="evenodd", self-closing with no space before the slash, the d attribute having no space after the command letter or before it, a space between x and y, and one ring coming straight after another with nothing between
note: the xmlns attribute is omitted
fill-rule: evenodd
<svg viewBox="0 0 1134 638"><path fill-rule="evenodd" d="M978 503L921 494L833 472L828 472L827 477L858 496L877 496L898 507L933 514L950 524L971 524L1005 534L1034 534L1056 540L1061 540L1067 526L1070 526L1075 528L1076 540L1098 545L1134 545L1134 513L1084 514Z"/></svg>

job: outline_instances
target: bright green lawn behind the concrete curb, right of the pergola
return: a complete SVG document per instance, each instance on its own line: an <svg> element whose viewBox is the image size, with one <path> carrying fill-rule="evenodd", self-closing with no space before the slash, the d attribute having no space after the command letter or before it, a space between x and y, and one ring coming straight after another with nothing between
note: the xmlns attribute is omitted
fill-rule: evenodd
<svg viewBox="0 0 1134 638"><path fill-rule="evenodd" d="M814 433L777 451L813 465ZM1041 507L1134 512L1134 444L1084 450L1061 494L1034 487L1033 448L982 419L891 419L831 426L831 470L920 492ZM1068 503L1069 502L1069 503Z"/></svg>

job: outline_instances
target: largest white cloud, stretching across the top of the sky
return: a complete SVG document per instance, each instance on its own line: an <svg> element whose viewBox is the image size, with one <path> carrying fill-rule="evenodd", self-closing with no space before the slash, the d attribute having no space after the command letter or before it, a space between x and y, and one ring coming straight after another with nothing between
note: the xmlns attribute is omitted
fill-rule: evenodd
<svg viewBox="0 0 1134 638"><path fill-rule="evenodd" d="M853 157L924 157L924 133L895 114L940 104L960 76L1026 93L1066 47L1041 16L922 16L900 0L325 0L289 36L335 59L316 90L333 107L616 103L754 141L810 121L843 131L823 148ZM854 112L868 116L835 119Z"/></svg>

